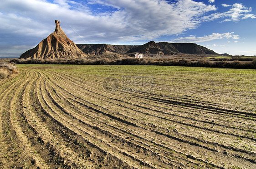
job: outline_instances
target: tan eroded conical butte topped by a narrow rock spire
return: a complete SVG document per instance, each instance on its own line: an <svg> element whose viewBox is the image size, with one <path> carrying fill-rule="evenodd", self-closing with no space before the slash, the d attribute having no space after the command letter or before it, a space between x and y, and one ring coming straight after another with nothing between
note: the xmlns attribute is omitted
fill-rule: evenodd
<svg viewBox="0 0 256 169"><path fill-rule="evenodd" d="M55 31L42 40L35 48L20 55L20 58L46 59L46 58L83 58L83 53L77 45L61 29L60 21L55 20Z"/></svg>

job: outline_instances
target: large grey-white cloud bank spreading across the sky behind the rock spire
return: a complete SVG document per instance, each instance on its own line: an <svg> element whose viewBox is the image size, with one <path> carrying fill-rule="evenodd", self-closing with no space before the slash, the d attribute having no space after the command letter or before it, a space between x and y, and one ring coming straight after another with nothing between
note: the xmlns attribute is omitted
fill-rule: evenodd
<svg viewBox="0 0 256 169"><path fill-rule="evenodd" d="M225 13L210 14L215 10L214 5L193 0L8 0L1 2L0 31L6 38L10 34L45 37L58 19L74 40L81 41L68 25L87 41L135 41L180 34L206 19L255 18L248 14L251 9L241 4Z"/></svg>

